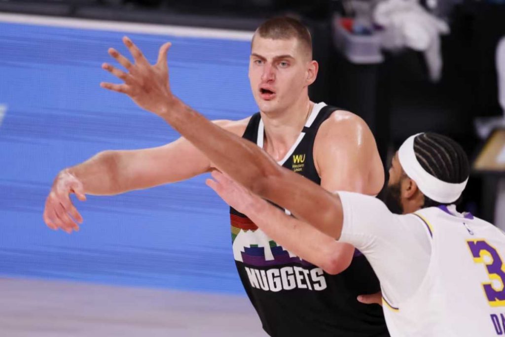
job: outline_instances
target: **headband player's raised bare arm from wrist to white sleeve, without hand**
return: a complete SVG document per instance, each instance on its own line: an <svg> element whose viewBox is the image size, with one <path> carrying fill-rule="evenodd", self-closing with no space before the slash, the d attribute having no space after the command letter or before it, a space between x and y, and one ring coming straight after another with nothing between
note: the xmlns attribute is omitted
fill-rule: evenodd
<svg viewBox="0 0 505 337"><path fill-rule="evenodd" d="M241 185L339 237L342 211L337 196L282 168L256 144L214 125L176 98L159 115Z"/></svg>

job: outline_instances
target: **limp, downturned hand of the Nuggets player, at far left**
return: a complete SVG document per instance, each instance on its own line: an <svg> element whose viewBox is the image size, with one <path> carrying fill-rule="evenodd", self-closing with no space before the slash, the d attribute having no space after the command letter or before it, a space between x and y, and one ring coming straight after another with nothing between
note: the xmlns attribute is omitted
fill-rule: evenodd
<svg viewBox="0 0 505 337"><path fill-rule="evenodd" d="M70 200L70 193L75 193L81 201L86 200L82 183L70 172L64 170L56 177L51 192L45 200L44 222L53 230L61 228L67 233L78 231L82 216Z"/></svg>

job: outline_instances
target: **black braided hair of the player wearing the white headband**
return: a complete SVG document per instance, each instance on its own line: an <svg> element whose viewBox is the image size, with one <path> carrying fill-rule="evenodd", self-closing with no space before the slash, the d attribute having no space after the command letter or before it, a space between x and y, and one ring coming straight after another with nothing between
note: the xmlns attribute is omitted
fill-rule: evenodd
<svg viewBox="0 0 505 337"><path fill-rule="evenodd" d="M470 165L463 148L449 137L427 132L414 139L414 153L426 172L446 183L459 184L470 174ZM458 204L461 197L454 203ZM441 205L424 196L424 206Z"/></svg>

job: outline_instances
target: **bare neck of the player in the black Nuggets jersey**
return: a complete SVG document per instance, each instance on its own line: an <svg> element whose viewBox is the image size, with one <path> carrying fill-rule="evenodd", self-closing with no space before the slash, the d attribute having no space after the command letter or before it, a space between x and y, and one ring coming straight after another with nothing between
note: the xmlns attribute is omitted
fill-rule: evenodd
<svg viewBox="0 0 505 337"><path fill-rule="evenodd" d="M261 118L265 126L264 149L275 160L281 160L298 138L309 118L314 102L305 96L282 111L265 113Z"/></svg>

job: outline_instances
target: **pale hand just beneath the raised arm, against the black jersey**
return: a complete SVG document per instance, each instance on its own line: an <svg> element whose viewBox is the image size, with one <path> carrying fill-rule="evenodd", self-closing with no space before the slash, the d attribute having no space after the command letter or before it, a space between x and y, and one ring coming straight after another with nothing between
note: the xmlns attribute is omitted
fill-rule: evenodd
<svg viewBox="0 0 505 337"><path fill-rule="evenodd" d="M247 214L251 207L265 202L265 200L255 194L252 194L243 186L239 185L230 177L219 171L213 171L212 178L214 178L214 180L207 179L205 183L228 205L235 208L240 213Z"/></svg>

